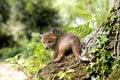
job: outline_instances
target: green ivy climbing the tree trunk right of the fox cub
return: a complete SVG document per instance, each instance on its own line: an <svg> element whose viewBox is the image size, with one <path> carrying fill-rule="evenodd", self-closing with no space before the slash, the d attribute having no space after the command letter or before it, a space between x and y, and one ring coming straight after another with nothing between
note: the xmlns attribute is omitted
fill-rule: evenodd
<svg viewBox="0 0 120 80"><path fill-rule="evenodd" d="M97 36L97 45L91 49L90 53L95 55L95 58L86 68L91 75L91 80L105 79L119 66L119 63L112 57L112 52L104 49L105 44L109 42L107 38L109 32L108 30L105 34Z"/></svg>

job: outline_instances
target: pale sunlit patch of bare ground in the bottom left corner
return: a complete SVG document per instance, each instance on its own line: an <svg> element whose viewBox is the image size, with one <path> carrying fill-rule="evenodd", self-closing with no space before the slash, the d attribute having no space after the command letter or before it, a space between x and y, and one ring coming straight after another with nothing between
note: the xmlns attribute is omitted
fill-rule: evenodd
<svg viewBox="0 0 120 80"><path fill-rule="evenodd" d="M5 62L0 62L0 80L25 80L26 76L17 68Z"/></svg>

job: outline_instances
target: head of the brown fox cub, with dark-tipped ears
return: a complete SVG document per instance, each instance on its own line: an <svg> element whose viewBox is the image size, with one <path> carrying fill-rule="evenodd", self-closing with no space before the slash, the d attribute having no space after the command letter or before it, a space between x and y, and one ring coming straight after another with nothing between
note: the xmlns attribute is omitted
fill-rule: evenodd
<svg viewBox="0 0 120 80"><path fill-rule="evenodd" d="M56 36L56 29L52 29L50 32L41 33L41 43L46 49L52 49L56 42L57 42L57 36Z"/></svg>

